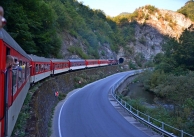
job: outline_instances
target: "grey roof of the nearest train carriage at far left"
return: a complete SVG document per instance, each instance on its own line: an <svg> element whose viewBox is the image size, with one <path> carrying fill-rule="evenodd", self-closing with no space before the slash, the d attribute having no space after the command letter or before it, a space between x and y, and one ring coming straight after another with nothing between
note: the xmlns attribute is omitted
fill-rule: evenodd
<svg viewBox="0 0 194 137"><path fill-rule="evenodd" d="M3 39L3 41L5 43L7 43L13 49L15 49L16 51L18 51L24 57L30 59L29 56L28 56L28 54L20 47L20 45L3 28L0 29L0 39Z"/></svg>

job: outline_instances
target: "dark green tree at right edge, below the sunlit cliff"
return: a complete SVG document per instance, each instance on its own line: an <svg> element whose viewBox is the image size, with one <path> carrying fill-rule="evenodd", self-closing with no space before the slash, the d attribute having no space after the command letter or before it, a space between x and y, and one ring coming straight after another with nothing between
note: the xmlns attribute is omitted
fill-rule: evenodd
<svg viewBox="0 0 194 137"><path fill-rule="evenodd" d="M173 73L182 75L188 70L194 70L194 31L192 26L186 29L179 42L175 39L170 39L163 45L164 53L159 53L154 58L154 63L157 70L162 70L165 73Z"/></svg>

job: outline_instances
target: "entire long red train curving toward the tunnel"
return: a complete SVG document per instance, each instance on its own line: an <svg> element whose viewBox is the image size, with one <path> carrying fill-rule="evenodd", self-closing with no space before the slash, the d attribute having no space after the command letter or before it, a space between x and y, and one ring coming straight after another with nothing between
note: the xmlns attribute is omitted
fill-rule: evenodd
<svg viewBox="0 0 194 137"><path fill-rule="evenodd" d="M68 71L118 64L107 59L49 59L28 55L4 30L0 30L0 137L11 136L31 83ZM11 55L23 69L6 68Z"/></svg>

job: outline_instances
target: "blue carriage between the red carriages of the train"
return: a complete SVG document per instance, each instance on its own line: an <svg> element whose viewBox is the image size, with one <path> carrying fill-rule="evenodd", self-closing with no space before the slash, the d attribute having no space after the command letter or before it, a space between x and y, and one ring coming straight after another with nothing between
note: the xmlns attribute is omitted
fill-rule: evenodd
<svg viewBox="0 0 194 137"><path fill-rule="evenodd" d="M86 61L83 59L70 59L69 60L69 69L77 70L86 68Z"/></svg>

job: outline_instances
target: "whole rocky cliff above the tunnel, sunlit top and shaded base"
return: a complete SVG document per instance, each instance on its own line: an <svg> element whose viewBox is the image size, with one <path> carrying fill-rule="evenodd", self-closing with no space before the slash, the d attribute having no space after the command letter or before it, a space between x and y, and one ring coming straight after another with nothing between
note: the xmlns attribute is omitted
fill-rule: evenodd
<svg viewBox="0 0 194 137"><path fill-rule="evenodd" d="M146 60L152 59L162 52L162 45L169 38L178 39L182 32L193 22L184 15L163 9L152 9L150 5L138 9L138 22L135 27L135 42L129 41L134 50L133 60L137 54L142 54ZM124 53L120 53L122 55Z"/></svg>

